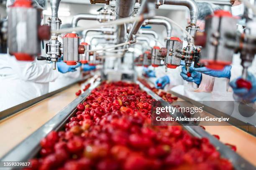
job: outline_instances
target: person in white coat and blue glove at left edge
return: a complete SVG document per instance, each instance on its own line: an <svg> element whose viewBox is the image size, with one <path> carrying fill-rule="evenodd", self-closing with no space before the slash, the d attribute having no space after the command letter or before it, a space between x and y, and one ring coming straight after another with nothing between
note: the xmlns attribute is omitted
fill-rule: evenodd
<svg viewBox="0 0 256 170"><path fill-rule="evenodd" d="M7 8L14 0L7 1ZM39 8L45 8L46 0L33 0ZM75 66L57 62L57 70L45 61L18 61L8 54L0 55L0 111L31 100L49 92L49 82L57 79L59 73L72 72Z"/></svg>

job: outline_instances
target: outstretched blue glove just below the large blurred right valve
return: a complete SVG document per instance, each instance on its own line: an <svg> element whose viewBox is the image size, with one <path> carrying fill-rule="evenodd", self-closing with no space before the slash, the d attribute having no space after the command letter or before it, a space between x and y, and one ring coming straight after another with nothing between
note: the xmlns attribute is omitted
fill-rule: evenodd
<svg viewBox="0 0 256 170"><path fill-rule="evenodd" d="M210 75L212 77L224 77L224 78L228 78L230 79L230 70L231 70L231 66L225 66L223 70L211 70L207 67L199 67L199 68L195 68L196 71L201 72L203 74L206 75Z"/></svg>

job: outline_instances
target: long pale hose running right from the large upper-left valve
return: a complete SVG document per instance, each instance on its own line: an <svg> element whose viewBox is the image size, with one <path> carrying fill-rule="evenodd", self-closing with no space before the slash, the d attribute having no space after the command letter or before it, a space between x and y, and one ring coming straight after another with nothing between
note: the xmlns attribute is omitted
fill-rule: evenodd
<svg viewBox="0 0 256 170"><path fill-rule="evenodd" d="M100 28L100 27L105 27L105 26L113 26L113 25L122 25L125 23L133 23L135 21L141 21L144 18L148 18L148 15L140 15L140 16L136 16L136 17L127 17L127 18L120 18L114 21L110 21L110 22L105 22L105 23L95 23L95 24L90 24L87 25L85 27L74 27L74 28L64 28L64 29L60 29L60 30L51 30L51 33L69 33L72 31L75 32L79 32L79 31L83 31L86 29L90 29L90 28Z"/></svg>

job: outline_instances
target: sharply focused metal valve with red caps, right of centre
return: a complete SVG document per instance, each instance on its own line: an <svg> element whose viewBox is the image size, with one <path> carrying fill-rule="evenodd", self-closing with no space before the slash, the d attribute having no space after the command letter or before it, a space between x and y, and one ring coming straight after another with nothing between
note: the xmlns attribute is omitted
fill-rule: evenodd
<svg viewBox="0 0 256 170"><path fill-rule="evenodd" d="M178 37L171 37L166 42L166 48L161 48L160 54L164 59L164 65L168 68L177 68L180 65L183 42Z"/></svg>

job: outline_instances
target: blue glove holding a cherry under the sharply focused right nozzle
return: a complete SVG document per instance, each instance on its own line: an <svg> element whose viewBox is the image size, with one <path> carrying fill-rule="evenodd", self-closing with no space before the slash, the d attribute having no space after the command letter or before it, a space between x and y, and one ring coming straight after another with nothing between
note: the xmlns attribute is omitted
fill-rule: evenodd
<svg viewBox="0 0 256 170"><path fill-rule="evenodd" d="M183 80L187 82L195 82L197 85L200 85L202 81L202 73L197 72L194 67L189 67L189 72L191 73L191 77L187 76L187 69L186 67L182 67L182 72L180 75L182 76Z"/></svg>

